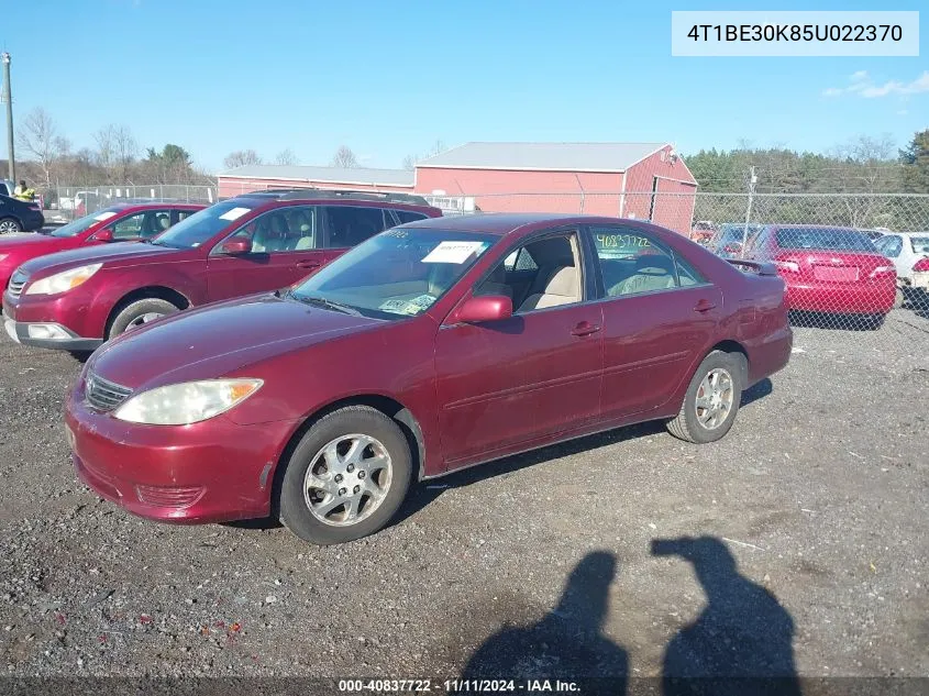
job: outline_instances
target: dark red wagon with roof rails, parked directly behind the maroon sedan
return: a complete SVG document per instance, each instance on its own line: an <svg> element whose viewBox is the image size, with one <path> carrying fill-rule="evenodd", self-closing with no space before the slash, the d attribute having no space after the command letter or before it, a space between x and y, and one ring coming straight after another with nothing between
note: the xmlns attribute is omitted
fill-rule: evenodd
<svg viewBox="0 0 929 696"><path fill-rule="evenodd" d="M373 234L441 214L402 194L240 196L145 244L78 248L23 264L3 295L7 333L29 345L91 351L180 309L285 287Z"/></svg>

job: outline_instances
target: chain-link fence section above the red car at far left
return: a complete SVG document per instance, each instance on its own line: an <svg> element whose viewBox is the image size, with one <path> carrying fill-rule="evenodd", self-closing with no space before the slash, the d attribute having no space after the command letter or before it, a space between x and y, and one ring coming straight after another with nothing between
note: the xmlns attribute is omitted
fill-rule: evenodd
<svg viewBox="0 0 929 696"><path fill-rule="evenodd" d="M42 207L52 223L70 222L114 203L133 200L173 200L188 203L217 201L214 186L140 184L130 186L56 186L42 191Z"/></svg>

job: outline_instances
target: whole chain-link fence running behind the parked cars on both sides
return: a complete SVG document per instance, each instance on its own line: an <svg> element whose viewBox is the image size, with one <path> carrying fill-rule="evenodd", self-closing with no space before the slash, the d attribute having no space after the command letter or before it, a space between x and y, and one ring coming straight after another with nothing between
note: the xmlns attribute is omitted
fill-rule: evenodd
<svg viewBox="0 0 929 696"><path fill-rule="evenodd" d="M184 184L59 186L46 196L51 222L128 200L218 200L215 187ZM619 191L424 198L444 214L552 212L650 221L721 257L773 264L787 285L797 325L877 330L895 313L920 319L929 332L926 195ZM631 269L639 265L631 258Z"/></svg>

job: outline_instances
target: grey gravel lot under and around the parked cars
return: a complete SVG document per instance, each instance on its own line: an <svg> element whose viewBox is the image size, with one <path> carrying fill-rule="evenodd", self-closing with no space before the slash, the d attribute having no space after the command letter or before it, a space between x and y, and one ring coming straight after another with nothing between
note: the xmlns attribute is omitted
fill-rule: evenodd
<svg viewBox="0 0 929 696"><path fill-rule="evenodd" d="M720 443L652 424L549 448L420 486L386 531L320 549L99 500L59 418L79 364L3 336L0 665L929 675L929 320L795 345Z"/></svg>

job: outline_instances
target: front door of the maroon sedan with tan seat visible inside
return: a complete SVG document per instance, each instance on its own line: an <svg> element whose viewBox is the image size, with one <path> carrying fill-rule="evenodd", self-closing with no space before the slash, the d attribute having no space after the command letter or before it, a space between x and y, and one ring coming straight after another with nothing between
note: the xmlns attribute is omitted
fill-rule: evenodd
<svg viewBox="0 0 929 696"><path fill-rule="evenodd" d="M532 292L518 300L511 318L438 331L439 421L450 468L599 416L602 314L585 287L589 272L579 232L545 232L523 246L538 267ZM519 250L506 251L472 294L519 297L507 283L505 258L512 251Z"/></svg>

